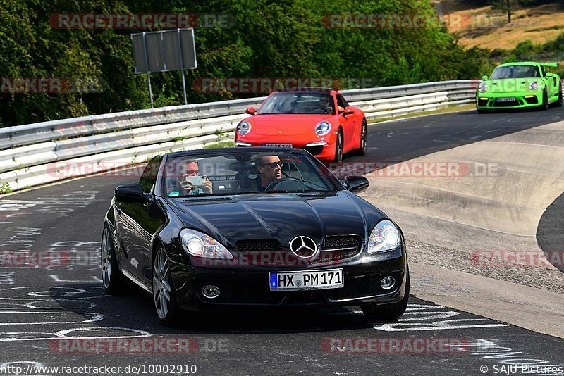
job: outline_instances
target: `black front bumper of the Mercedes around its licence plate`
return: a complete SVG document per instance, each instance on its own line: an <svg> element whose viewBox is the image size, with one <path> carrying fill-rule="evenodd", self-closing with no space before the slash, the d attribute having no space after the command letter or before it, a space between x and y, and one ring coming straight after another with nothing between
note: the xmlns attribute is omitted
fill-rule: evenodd
<svg viewBox="0 0 564 376"><path fill-rule="evenodd" d="M345 263L316 265L308 270L343 268L344 287L314 291L272 292L269 272L292 271L290 268L203 268L171 262L178 307L190 311L213 311L226 306L356 306L364 303L396 303L405 296L407 258L405 248L398 257L376 261L373 256L359 256ZM303 267L294 270L304 270ZM381 280L392 276L396 283L383 289ZM213 299L202 294L207 285L219 287Z"/></svg>

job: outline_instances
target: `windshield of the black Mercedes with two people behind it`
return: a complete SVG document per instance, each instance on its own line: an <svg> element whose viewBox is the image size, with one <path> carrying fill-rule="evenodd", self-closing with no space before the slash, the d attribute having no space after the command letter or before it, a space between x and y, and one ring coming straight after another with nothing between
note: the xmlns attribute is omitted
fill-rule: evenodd
<svg viewBox="0 0 564 376"><path fill-rule="evenodd" d="M298 153L226 153L168 158L164 192L169 197L257 192L333 192L316 164Z"/></svg>

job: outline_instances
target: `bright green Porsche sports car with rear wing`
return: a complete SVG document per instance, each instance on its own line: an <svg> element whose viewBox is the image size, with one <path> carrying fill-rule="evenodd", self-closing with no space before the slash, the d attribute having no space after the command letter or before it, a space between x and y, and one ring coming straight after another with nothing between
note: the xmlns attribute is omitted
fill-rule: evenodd
<svg viewBox="0 0 564 376"><path fill-rule="evenodd" d="M549 104L562 106L560 77L546 71L557 63L506 63L494 73L482 77L476 91L476 108L479 113L505 108L541 108Z"/></svg>

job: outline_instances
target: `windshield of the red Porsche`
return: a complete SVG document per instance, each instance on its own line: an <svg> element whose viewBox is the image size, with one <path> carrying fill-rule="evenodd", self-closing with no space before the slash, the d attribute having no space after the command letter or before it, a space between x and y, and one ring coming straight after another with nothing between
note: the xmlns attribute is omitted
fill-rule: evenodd
<svg viewBox="0 0 564 376"><path fill-rule="evenodd" d="M333 97L326 93L277 92L269 96L259 110L269 113L326 113L334 114Z"/></svg>

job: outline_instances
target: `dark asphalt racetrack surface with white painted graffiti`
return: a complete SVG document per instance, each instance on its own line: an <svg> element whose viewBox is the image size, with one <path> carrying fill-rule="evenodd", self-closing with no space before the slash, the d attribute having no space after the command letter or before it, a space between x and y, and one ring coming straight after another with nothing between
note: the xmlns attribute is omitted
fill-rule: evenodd
<svg viewBox="0 0 564 376"><path fill-rule="evenodd" d="M488 115L469 111L370 125L368 155L346 161L404 161L563 117L561 108ZM4 374L112 374L110 369L62 368L81 365L121 367L114 370L118 375L143 371L164 375L177 370L182 371L179 375L544 371L510 368L515 363L555 365L564 374L562 339L415 298L403 318L391 324L369 322L358 307L352 307L187 315L179 327L161 327L148 296L135 289L125 296L106 296L99 276L104 213L114 187L135 182L132 175L123 171L88 177L0 199L0 341L5 342L0 368L4 367ZM16 255L22 253L14 251L21 250L43 256L51 252L66 265L49 266L55 262L29 258L26 262L31 265L18 266L21 259ZM34 267L35 263L41 266ZM412 280L414 286L417 283ZM163 340L169 340L168 348ZM127 366L140 370L131 372L125 370Z"/></svg>

